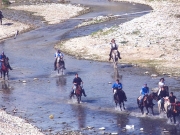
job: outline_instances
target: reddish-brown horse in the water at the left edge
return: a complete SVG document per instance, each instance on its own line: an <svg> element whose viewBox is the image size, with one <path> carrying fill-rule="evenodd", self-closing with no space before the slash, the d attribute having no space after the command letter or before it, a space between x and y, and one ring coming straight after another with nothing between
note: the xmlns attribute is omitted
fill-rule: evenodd
<svg viewBox="0 0 180 135"><path fill-rule="evenodd" d="M9 80L9 58L5 57L1 61L1 78L5 80L5 76L7 75L7 79Z"/></svg>

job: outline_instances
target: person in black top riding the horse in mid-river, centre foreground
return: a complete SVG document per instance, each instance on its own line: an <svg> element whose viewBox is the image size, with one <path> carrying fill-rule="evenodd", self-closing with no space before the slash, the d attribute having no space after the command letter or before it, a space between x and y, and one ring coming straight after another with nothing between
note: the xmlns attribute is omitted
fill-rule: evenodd
<svg viewBox="0 0 180 135"><path fill-rule="evenodd" d="M73 90L72 90L71 94L73 94L73 93L75 92L77 86L83 86L83 81L82 81L82 79L78 76L77 73L75 74L75 78L73 79L73 84L74 84L74 86L73 86ZM82 88L82 87L81 87L81 88ZM86 97L87 95L85 94L85 91L84 91L83 88L81 89L81 91L82 91L83 95Z"/></svg>

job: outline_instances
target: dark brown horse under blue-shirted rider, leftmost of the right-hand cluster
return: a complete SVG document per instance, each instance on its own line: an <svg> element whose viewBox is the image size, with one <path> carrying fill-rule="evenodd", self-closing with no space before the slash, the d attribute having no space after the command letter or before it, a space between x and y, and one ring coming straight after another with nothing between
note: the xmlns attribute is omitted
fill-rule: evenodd
<svg viewBox="0 0 180 135"><path fill-rule="evenodd" d="M152 92L149 95L145 95L142 99L142 103L140 103L140 100L141 100L140 97L137 98L137 104L141 110L141 113L144 114L144 107L146 107L146 110L147 110L146 115L148 115L148 113L149 113L148 108L151 108L152 114L154 115L153 106L155 104L153 103L153 100L157 101L157 99L158 99L157 93Z"/></svg>

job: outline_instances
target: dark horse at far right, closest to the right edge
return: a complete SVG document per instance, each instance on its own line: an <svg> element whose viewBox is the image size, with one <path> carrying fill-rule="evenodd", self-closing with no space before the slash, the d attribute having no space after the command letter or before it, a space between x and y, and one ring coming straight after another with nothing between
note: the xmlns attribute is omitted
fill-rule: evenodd
<svg viewBox="0 0 180 135"><path fill-rule="evenodd" d="M172 119L174 121L174 124L176 124L176 116L179 116L180 114L180 102L176 103L170 103L169 101L165 102L164 108L167 112L167 118L169 118L172 122Z"/></svg>

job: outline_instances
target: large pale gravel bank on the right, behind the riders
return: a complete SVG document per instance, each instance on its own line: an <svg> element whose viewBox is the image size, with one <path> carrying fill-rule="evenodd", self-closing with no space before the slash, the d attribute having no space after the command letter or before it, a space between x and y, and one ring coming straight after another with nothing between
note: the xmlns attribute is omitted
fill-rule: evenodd
<svg viewBox="0 0 180 135"><path fill-rule="evenodd" d="M77 58L108 61L110 41L119 45L122 63L154 68L159 73L180 75L180 3L135 0L153 11L95 34L56 45ZM78 53L77 53L78 52Z"/></svg>

